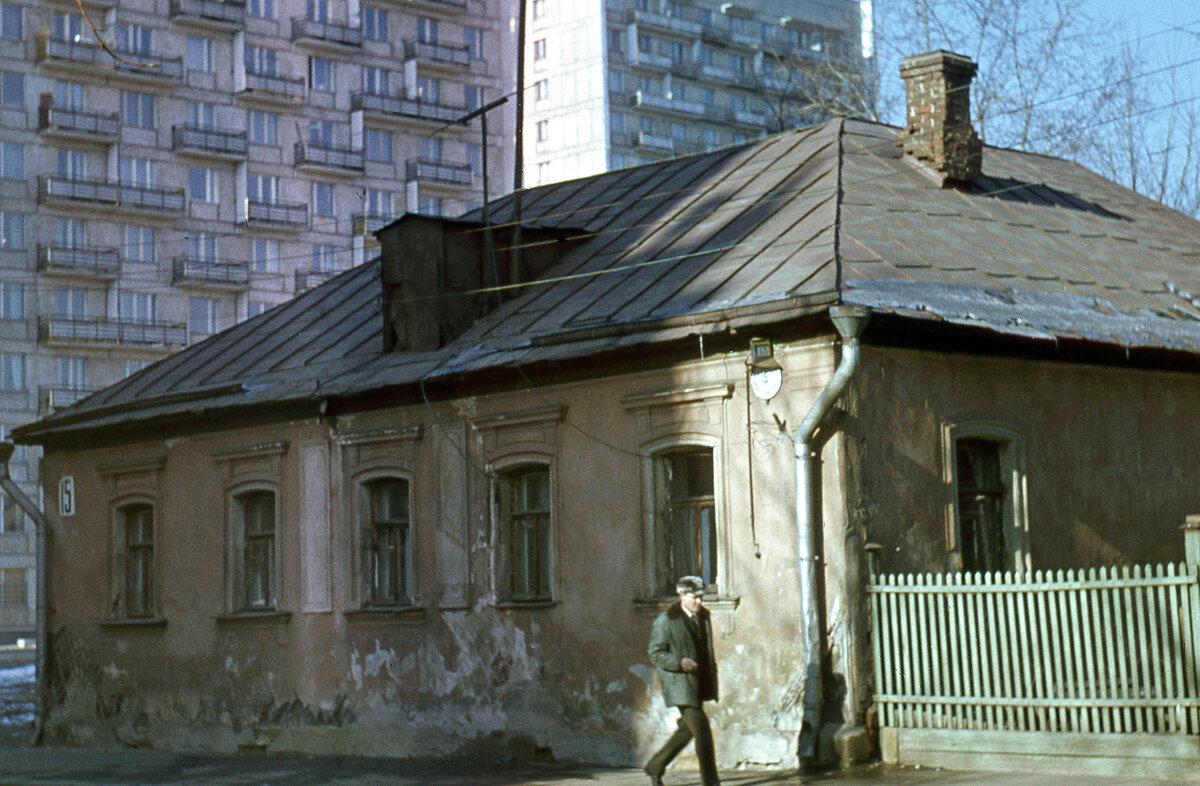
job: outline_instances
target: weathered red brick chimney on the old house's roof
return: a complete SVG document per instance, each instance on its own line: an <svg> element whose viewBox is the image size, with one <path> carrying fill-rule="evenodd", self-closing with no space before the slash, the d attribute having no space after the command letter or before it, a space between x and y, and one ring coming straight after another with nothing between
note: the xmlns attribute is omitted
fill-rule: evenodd
<svg viewBox="0 0 1200 786"><path fill-rule="evenodd" d="M938 49L905 58L900 76L908 100L900 134L905 155L938 173L942 185L979 176L983 140L971 126L971 78L976 64Z"/></svg>

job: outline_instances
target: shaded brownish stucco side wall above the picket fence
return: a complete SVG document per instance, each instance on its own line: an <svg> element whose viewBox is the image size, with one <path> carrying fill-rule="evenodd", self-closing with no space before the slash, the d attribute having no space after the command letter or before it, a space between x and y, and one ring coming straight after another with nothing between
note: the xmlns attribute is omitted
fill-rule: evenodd
<svg viewBox="0 0 1200 786"><path fill-rule="evenodd" d="M1200 511L1200 378L868 348L845 406L847 499L887 572L953 565L947 433L1020 454L1033 569L1180 562Z"/></svg>

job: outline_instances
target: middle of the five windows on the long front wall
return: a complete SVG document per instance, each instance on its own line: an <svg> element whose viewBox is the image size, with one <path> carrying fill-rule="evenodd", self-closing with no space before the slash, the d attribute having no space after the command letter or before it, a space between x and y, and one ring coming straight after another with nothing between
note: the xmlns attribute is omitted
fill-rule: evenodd
<svg viewBox="0 0 1200 786"><path fill-rule="evenodd" d="M408 481L382 478L362 484L359 504L364 605L412 602Z"/></svg>

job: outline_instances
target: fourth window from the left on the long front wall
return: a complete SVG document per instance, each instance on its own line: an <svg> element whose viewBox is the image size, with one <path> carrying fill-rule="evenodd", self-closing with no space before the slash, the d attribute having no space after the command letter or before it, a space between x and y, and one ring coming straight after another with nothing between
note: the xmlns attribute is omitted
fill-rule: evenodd
<svg viewBox="0 0 1200 786"><path fill-rule="evenodd" d="M502 472L493 486L498 524L497 589L509 601L551 599L550 468Z"/></svg>

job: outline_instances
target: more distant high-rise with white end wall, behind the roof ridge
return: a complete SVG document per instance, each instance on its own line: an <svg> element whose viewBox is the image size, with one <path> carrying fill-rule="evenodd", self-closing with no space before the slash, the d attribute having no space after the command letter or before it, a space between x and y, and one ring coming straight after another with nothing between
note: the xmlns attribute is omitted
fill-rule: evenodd
<svg viewBox="0 0 1200 786"><path fill-rule="evenodd" d="M526 185L874 107L859 0L528 2Z"/></svg>

